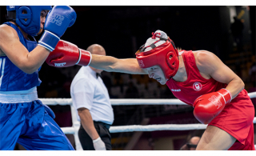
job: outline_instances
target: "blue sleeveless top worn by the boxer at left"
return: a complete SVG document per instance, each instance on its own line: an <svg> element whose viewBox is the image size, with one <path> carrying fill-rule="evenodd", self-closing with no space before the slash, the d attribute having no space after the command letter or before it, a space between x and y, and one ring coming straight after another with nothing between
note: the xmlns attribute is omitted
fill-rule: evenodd
<svg viewBox="0 0 256 156"><path fill-rule="evenodd" d="M38 46L35 39L34 41L26 40L22 31L18 29L18 26L15 26L11 22L5 22L4 24L13 27L14 30L17 31L20 42L22 42L22 45L25 46L29 52ZM30 90L34 86L39 86L40 83L41 80L38 78L38 70L33 74L26 74L15 66L6 56L0 57L0 91Z"/></svg>

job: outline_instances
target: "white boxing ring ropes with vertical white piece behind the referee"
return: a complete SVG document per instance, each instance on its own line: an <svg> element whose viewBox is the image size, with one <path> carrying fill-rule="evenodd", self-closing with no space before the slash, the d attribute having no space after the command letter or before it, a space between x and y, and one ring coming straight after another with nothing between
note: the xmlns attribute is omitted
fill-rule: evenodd
<svg viewBox="0 0 256 156"><path fill-rule="evenodd" d="M248 94L250 98L256 98L256 92ZM62 127L61 129L65 134L74 134L74 142L76 150L82 150L82 146L78 138L78 130L80 127L80 122L77 120L76 111L74 106L72 106L71 98L40 98L42 103L48 106L54 105L70 105L71 116L73 126ZM110 99L112 106L121 105L186 105L184 102L178 99ZM254 123L256 123L256 118L254 118ZM207 125L200 123L197 124L158 124L158 125L130 125L130 126L111 126L110 133L120 133L120 132L133 132L133 131L155 131L155 130L205 130ZM254 145L256 148L256 145Z"/></svg>

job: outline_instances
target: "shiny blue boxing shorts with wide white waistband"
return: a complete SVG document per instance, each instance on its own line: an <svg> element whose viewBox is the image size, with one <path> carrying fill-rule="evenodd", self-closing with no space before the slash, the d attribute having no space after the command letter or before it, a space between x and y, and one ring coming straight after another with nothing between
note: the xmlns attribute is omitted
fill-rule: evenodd
<svg viewBox="0 0 256 156"><path fill-rule="evenodd" d="M74 150L52 116L37 93L0 93L0 150L14 150L16 142L26 150Z"/></svg>

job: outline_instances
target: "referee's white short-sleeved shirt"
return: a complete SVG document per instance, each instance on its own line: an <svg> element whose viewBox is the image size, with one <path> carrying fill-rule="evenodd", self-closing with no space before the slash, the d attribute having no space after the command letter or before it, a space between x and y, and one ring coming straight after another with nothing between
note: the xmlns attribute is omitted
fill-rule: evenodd
<svg viewBox="0 0 256 156"><path fill-rule="evenodd" d="M91 117L96 122L104 122L112 125L114 112L110 103L110 95L102 78L96 78L96 72L90 66L82 66L75 75L70 94L75 110L85 107L90 110ZM78 111L76 111L78 121Z"/></svg>

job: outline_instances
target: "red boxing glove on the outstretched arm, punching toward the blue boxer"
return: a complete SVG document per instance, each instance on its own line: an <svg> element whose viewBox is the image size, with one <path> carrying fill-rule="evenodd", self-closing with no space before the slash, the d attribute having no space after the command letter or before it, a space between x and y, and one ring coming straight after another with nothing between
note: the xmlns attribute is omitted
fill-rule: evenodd
<svg viewBox="0 0 256 156"><path fill-rule="evenodd" d="M73 43L60 40L55 49L46 58L46 63L55 67L88 66L90 60L91 54L89 51L79 49Z"/></svg>

